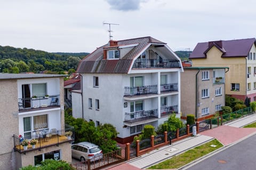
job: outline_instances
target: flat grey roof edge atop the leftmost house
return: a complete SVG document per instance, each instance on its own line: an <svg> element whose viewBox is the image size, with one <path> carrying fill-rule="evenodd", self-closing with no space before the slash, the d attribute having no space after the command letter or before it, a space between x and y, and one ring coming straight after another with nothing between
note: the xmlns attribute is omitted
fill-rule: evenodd
<svg viewBox="0 0 256 170"><path fill-rule="evenodd" d="M0 79L50 78L50 77L66 77L66 76L67 75L0 73Z"/></svg>

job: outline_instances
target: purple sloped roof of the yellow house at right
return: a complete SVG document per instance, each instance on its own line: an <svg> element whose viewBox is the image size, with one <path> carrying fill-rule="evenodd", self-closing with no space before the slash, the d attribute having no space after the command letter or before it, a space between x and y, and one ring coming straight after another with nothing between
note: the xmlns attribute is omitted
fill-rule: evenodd
<svg viewBox="0 0 256 170"><path fill-rule="evenodd" d="M253 44L256 45L255 38L248 39L234 39L229 41L218 41L221 42L220 46L218 43L206 42L198 43L190 54L189 59L206 58L207 51L211 47L217 47L221 52L221 57L245 57L251 50Z"/></svg>

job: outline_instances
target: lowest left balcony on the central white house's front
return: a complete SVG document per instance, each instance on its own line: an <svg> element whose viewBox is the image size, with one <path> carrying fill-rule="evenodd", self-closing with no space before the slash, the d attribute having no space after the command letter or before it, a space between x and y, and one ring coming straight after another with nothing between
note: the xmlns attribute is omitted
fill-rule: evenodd
<svg viewBox="0 0 256 170"><path fill-rule="evenodd" d="M150 120L158 118L158 109L147 110L147 111L135 111L132 113L125 113L124 123L132 124L144 120Z"/></svg>

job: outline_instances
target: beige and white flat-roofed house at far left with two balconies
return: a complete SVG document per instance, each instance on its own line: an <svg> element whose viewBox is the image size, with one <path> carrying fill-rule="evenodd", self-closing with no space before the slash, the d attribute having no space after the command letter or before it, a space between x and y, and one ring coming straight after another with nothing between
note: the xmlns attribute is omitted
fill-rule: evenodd
<svg viewBox="0 0 256 170"><path fill-rule="evenodd" d="M44 159L71 162L64 123L63 76L0 74L0 167L19 169ZM73 133L74 135L74 133ZM22 141L37 143L27 147Z"/></svg>

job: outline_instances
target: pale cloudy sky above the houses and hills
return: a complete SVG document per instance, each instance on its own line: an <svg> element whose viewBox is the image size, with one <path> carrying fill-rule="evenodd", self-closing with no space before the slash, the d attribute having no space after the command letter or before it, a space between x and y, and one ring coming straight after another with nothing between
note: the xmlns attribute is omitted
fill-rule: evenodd
<svg viewBox="0 0 256 170"><path fill-rule="evenodd" d="M151 36L172 50L256 37L250 0L0 0L0 45L92 52L109 41Z"/></svg>

